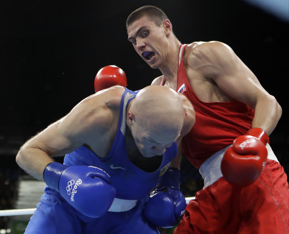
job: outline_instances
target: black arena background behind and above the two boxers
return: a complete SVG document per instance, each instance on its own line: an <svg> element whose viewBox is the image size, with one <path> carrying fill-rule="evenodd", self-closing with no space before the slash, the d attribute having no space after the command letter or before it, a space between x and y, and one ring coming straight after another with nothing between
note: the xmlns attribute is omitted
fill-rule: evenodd
<svg viewBox="0 0 289 234"><path fill-rule="evenodd" d="M237 0L2 3L2 172L17 167L15 155L27 139L94 93L101 67L122 68L131 90L161 75L127 41L126 17L143 5L160 7L182 43L227 43L276 97L283 115L270 143L288 174L288 21Z"/></svg>

